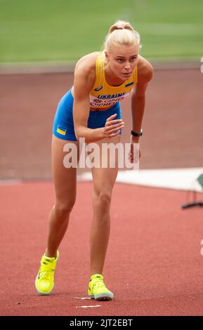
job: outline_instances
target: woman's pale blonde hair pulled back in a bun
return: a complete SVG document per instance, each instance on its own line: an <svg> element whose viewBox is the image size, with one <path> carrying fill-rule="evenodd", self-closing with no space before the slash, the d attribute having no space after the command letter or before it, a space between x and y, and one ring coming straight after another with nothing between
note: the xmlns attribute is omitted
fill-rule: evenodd
<svg viewBox="0 0 203 330"><path fill-rule="evenodd" d="M129 22L124 22L124 20L117 20L117 22L112 25L105 37L105 42L103 44L103 51L110 51L114 44L122 46L133 46L138 44L140 49L140 34L133 29Z"/></svg>

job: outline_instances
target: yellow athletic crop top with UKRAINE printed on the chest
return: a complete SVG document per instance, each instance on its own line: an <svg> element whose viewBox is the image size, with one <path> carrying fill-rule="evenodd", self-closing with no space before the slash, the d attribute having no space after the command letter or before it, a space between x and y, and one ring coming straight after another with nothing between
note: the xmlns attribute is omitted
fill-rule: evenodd
<svg viewBox="0 0 203 330"><path fill-rule="evenodd" d="M112 107L118 101L128 98L133 86L138 82L138 69L122 85L110 86L105 79L105 53L98 54L96 60L96 79L90 91L90 107Z"/></svg>

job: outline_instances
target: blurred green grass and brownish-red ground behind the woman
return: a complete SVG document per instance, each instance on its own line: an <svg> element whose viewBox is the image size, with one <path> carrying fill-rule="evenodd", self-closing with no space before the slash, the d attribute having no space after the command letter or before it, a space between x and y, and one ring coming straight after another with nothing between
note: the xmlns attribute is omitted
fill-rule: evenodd
<svg viewBox="0 0 203 330"><path fill-rule="evenodd" d="M0 0L0 179L51 178L58 101L77 60L100 51L118 19L140 33L140 55L155 67L140 169L202 166L202 18L202 0ZM129 143L129 100L122 112Z"/></svg>

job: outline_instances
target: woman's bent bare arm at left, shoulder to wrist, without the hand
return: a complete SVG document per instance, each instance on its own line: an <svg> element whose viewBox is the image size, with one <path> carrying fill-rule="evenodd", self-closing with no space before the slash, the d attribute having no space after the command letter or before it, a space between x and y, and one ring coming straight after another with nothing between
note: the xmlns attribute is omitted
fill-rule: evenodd
<svg viewBox="0 0 203 330"><path fill-rule="evenodd" d="M73 121L74 131L77 137L85 138L86 143L96 142L105 138L104 128L88 128L89 119L89 92L93 86L91 79L91 70L86 65L80 65L74 74L74 103L73 103Z"/></svg>

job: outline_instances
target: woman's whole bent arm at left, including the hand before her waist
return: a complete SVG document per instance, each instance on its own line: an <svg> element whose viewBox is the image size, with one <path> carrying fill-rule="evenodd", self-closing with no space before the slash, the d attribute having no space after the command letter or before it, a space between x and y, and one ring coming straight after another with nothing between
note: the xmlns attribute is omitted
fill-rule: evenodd
<svg viewBox="0 0 203 330"><path fill-rule="evenodd" d="M73 121L74 132L77 137L85 138L86 143L96 142L103 138L112 138L119 134L119 129L123 128L122 119L116 119L116 115L107 118L105 127L88 128L90 112L89 93L94 83L94 70L89 65L81 64L74 74L74 103Z"/></svg>

